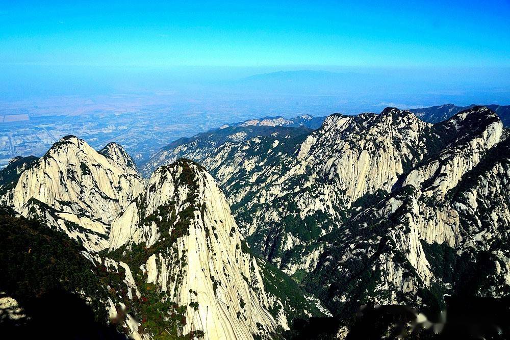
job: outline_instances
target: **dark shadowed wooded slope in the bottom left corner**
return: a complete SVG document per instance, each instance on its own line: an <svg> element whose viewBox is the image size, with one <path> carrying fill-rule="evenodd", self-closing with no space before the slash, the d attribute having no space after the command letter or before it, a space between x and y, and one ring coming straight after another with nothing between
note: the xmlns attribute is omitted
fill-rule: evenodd
<svg viewBox="0 0 510 340"><path fill-rule="evenodd" d="M66 234L34 220L0 211L0 291L18 301L30 319L17 328L19 338L52 329L69 338L120 337L108 326L107 291L100 274ZM3 333L4 335L5 333Z"/></svg>

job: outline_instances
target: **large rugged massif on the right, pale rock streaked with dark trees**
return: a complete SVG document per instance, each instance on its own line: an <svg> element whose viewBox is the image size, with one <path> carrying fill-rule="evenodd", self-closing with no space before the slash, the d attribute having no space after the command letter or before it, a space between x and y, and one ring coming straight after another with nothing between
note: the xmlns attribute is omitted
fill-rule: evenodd
<svg viewBox="0 0 510 340"><path fill-rule="evenodd" d="M341 317L369 301L441 309L443 294L507 294L507 138L486 107L436 124L388 108L200 161L252 248Z"/></svg>

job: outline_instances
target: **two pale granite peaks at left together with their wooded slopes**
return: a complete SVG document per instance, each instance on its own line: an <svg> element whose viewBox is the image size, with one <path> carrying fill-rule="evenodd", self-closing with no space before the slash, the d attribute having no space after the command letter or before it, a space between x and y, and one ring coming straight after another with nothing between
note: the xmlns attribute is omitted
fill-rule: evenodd
<svg viewBox="0 0 510 340"><path fill-rule="evenodd" d="M0 176L3 200L17 213L83 247L98 293L75 281L68 293L99 311L103 305L124 334L271 338L295 317L323 315L295 282L251 254L215 180L191 161L160 167L147 183L120 145L97 152L69 136Z"/></svg>

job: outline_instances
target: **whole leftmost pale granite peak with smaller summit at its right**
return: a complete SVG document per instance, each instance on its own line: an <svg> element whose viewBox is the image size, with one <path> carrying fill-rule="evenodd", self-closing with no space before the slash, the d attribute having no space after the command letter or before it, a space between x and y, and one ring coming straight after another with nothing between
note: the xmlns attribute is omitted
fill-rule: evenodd
<svg viewBox="0 0 510 340"><path fill-rule="evenodd" d="M144 180L122 147L92 149L67 136L19 175L3 200L32 218L43 217L54 227L80 239L90 250L107 247L110 222L143 189Z"/></svg>

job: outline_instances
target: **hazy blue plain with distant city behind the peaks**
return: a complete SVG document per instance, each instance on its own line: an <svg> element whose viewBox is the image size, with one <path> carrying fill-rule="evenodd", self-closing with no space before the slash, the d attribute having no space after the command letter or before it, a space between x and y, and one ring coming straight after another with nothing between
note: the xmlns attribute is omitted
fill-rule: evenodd
<svg viewBox="0 0 510 340"><path fill-rule="evenodd" d="M224 123L263 116L325 116L378 111L384 103L347 104L336 97L184 98L143 95L60 97L20 101L0 109L0 167L16 155L41 156L66 135L83 138L95 148L122 144L137 163L180 137Z"/></svg>

